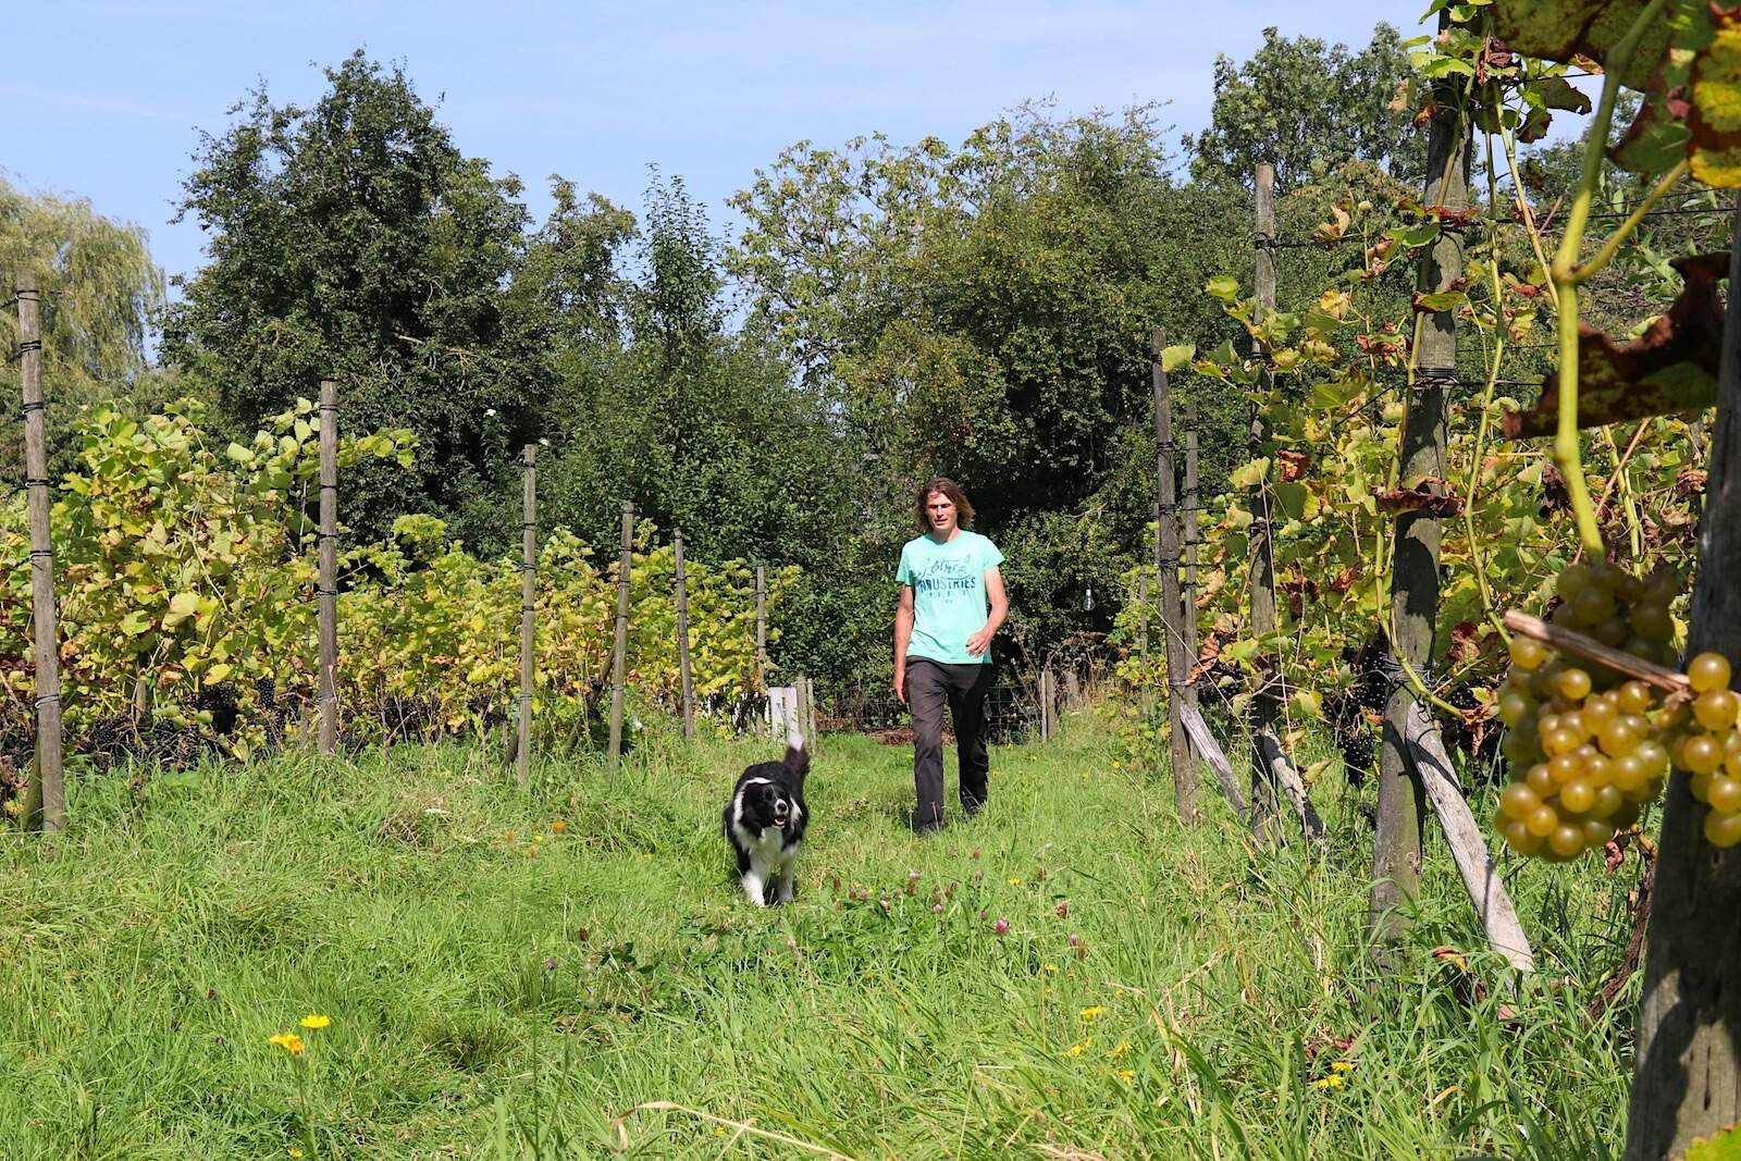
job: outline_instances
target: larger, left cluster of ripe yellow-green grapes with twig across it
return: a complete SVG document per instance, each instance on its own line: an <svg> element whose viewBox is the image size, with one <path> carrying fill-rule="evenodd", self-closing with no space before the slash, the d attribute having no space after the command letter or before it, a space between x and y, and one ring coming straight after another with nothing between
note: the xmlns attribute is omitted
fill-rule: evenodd
<svg viewBox="0 0 1741 1161"><path fill-rule="evenodd" d="M1607 560L1574 564L1556 592L1563 602L1551 616L1556 625L1657 665L1673 663L1668 609L1680 580L1671 571L1640 580ZM1663 792L1671 764L1663 742L1668 714L1645 682L1603 665L1562 661L1539 641L1516 637L1499 691L1511 782L1499 795L1494 829L1520 855L1549 862L1600 849ZM1741 782L1736 792L1741 811ZM1741 839L1741 820L1736 827Z"/></svg>

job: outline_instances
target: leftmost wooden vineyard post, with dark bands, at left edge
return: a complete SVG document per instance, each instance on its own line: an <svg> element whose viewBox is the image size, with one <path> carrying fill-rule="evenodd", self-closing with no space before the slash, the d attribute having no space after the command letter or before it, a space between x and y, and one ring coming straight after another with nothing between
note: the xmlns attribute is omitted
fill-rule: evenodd
<svg viewBox="0 0 1741 1161"><path fill-rule="evenodd" d="M54 607L54 536L49 522L47 402L42 395L42 292L37 275L17 275L17 362L24 395L24 487L30 517L30 620L37 695L37 761L24 794L24 827L54 834L66 825L61 738L61 634Z"/></svg>

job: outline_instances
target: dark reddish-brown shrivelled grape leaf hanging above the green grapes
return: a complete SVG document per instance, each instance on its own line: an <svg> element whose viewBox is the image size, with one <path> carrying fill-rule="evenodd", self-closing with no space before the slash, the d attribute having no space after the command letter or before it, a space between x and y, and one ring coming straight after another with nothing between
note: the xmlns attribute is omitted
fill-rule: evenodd
<svg viewBox="0 0 1741 1161"><path fill-rule="evenodd" d="M1677 258L1685 285L1680 298L1631 343L1577 327L1577 425L1603 426L1649 416L1699 411L1717 402L1724 305L1718 279L1729 273L1727 254ZM1541 399L1529 411L1506 413L1506 439L1539 439L1558 428L1560 376L1543 378Z"/></svg>

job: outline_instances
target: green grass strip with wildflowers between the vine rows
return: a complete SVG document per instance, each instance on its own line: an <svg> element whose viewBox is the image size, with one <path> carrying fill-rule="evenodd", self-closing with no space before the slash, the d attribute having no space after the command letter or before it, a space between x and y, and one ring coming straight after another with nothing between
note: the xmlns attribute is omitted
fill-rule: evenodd
<svg viewBox="0 0 1741 1161"><path fill-rule="evenodd" d="M717 818L768 750L660 736L531 790L461 747L77 782L52 848L0 832L0 1156L604 1158L623 1114L637 1158L1619 1152L1637 982L1584 1006L1631 865L1509 869L1546 983L1508 999L1433 842L1381 975L1358 794L1318 787L1328 863L1257 853L1078 719L928 839L911 752L827 738L797 903L754 910ZM268 1044L306 1013L301 1057Z"/></svg>

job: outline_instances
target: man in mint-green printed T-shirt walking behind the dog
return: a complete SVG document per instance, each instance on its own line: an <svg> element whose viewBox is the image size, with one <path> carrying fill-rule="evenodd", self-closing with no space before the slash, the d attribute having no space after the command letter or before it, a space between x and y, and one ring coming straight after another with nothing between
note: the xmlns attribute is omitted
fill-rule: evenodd
<svg viewBox="0 0 1741 1161"><path fill-rule="evenodd" d="M985 695L991 639L1010 613L998 547L966 531L973 505L961 486L937 477L919 489L923 536L900 550L895 613L895 696L912 710L912 813L916 834L944 825L944 705L956 729L961 809L985 806ZM989 611L987 611L989 602Z"/></svg>

